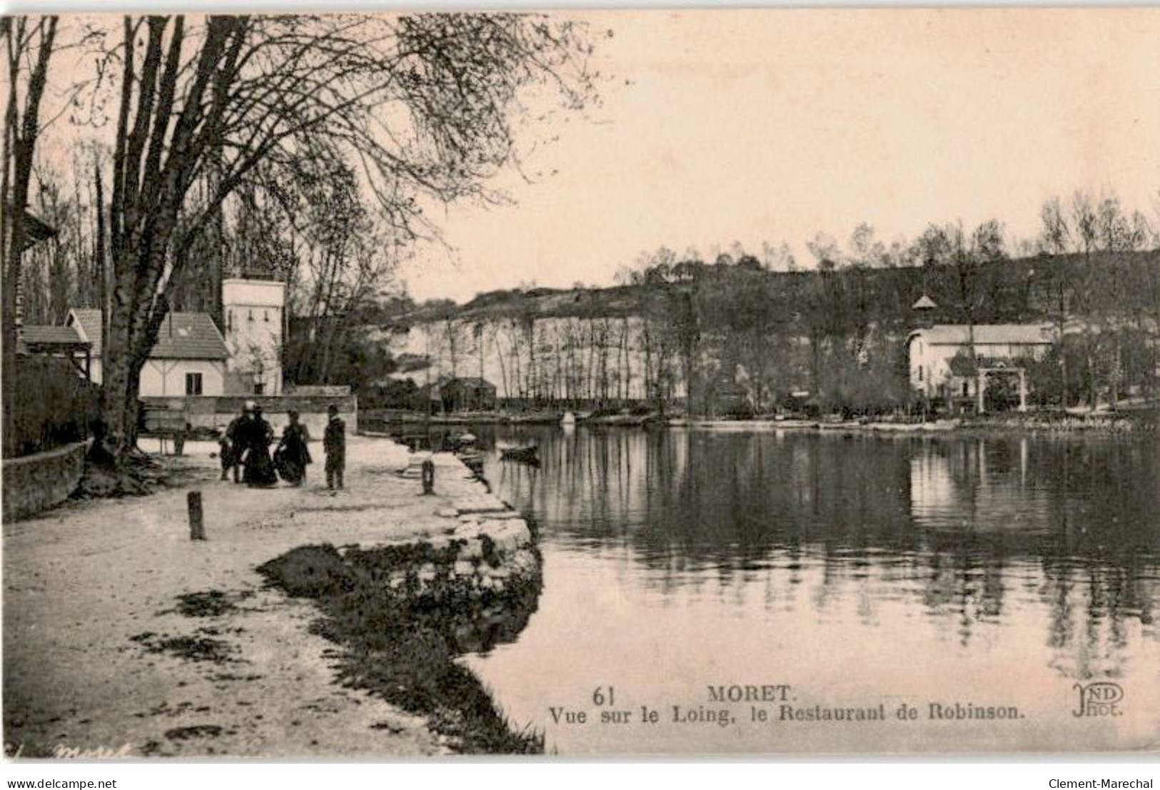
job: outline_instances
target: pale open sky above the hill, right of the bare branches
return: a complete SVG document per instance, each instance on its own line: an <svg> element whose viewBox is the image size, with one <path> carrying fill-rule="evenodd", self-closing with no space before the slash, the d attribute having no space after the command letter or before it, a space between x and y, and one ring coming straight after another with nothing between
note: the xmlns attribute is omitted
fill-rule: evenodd
<svg viewBox="0 0 1160 790"><path fill-rule="evenodd" d="M846 242L995 217L1038 232L1052 195L1115 191L1160 220L1160 9L571 12L601 104L492 186L513 205L435 217L400 278L465 300L611 284L644 251ZM525 143L530 142L529 137ZM530 147L530 143L529 143ZM541 175L537 175L541 174Z"/></svg>

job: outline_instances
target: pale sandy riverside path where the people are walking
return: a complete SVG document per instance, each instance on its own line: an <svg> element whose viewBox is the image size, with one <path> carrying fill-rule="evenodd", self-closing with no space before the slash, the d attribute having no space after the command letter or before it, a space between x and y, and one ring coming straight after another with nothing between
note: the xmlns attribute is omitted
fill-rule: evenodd
<svg viewBox="0 0 1160 790"><path fill-rule="evenodd" d="M419 480L393 472L406 449L385 440L350 437L338 495L320 484L320 463L303 488L249 490L218 480L216 445L186 450L166 459L175 485L153 495L70 502L3 526L7 753L452 751L427 717L341 684L343 650L318 635L318 606L256 568L303 545L370 549L445 534L457 505L486 495L481 484L440 455L436 495L420 497ZM190 488L203 492L205 542L189 539Z"/></svg>

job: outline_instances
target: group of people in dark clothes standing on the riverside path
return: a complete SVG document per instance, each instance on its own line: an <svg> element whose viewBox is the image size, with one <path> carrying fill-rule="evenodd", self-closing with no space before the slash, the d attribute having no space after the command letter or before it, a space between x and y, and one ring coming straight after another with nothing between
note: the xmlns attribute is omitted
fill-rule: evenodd
<svg viewBox="0 0 1160 790"><path fill-rule="evenodd" d="M322 451L326 454L326 487L342 488L342 474L347 466L347 426L339 416L339 407L327 410L326 430L322 434ZM277 485L281 478L293 486L306 481L306 468L313 463L310 455L310 432L299 422L298 412L290 410L289 423L274 444L274 428L262 416L262 407L247 403L241 414L233 419L225 435L218 440L222 456L222 479L245 483L253 488Z"/></svg>

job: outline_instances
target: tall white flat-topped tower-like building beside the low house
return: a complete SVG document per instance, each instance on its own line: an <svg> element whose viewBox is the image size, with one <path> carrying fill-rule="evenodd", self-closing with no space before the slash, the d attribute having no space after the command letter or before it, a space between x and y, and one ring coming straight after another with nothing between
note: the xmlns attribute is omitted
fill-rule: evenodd
<svg viewBox="0 0 1160 790"><path fill-rule="evenodd" d="M282 394L284 311L285 283L240 277L222 281L231 394Z"/></svg>

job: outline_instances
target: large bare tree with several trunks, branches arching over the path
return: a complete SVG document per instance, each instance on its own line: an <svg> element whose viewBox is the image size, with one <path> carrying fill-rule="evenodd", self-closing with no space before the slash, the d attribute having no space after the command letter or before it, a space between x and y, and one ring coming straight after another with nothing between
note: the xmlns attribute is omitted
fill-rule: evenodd
<svg viewBox="0 0 1160 790"><path fill-rule="evenodd" d="M522 86L549 82L579 107L593 85L581 26L519 14L126 16L121 38L108 56L122 78L104 379L121 455L189 251L259 166L356 164L393 230L414 238L434 232L416 194L490 197L484 181L514 153Z"/></svg>

